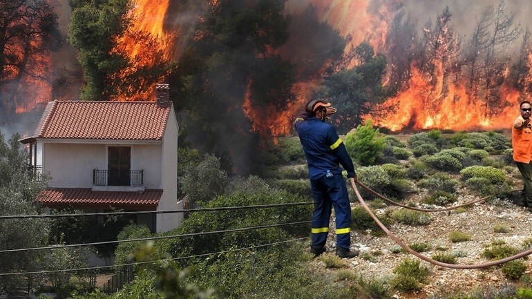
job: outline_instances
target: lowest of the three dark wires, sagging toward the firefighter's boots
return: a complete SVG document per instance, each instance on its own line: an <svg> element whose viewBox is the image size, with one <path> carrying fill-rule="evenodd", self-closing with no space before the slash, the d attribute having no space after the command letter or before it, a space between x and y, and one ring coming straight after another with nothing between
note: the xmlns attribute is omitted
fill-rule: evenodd
<svg viewBox="0 0 532 299"><path fill-rule="evenodd" d="M297 238L297 239L292 239L292 240L285 240L285 241L279 241L279 242L274 242L274 243L255 245L255 246L238 248L238 249L229 249L229 250L218 251L218 252L202 253L202 254L198 254L198 255L188 255L188 256L182 256L182 257L178 257L178 258L167 258L167 259L164 259L164 260L150 260L150 261L146 261L146 262L131 262L131 263L128 263L128 264L113 264L113 265L108 265L108 266L84 267L84 268L75 268L75 269L41 270L41 271L28 271L28 272L10 272L10 273L0 273L0 276L46 274L46 273L68 272L68 271L87 271L87 270L108 269L108 268L113 268L113 267L133 266L133 265L137 265L137 264L151 264L151 263L155 263L155 262L169 262L171 260L184 260L184 259L187 259L187 258L200 258L202 256L207 256L207 255L229 253L229 252L234 252L234 251L244 251L244 250L247 250L247 249L256 249L256 248L260 248L260 247L267 247L267 246L271 246L271 245L278 245L278 244L284 244L284 243L288 243L288 242L305 240L305 239L308 239L308 238L310 238L310 237L303 237L303 238Z"/></svg>

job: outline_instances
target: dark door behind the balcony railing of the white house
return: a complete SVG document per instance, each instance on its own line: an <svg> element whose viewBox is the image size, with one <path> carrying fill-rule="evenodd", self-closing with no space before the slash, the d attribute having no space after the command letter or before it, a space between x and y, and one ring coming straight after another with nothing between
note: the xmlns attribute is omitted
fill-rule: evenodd
<svg viewBox="0 0 532 299"><path fill-rule="evenodd" d="M129 146L109 146L107 177L108 186L129 186L131 170L131 148Z"/></svg>

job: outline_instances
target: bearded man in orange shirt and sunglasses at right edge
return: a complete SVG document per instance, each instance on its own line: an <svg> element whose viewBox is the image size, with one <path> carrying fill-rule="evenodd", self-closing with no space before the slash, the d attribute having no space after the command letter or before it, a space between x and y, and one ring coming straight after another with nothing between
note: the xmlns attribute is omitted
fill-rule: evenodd
<svg viewBox="0 0 532 299"><path fill-rule="evenodd" d="M532 114L532 105L528 101L521 102L521 115L515 119L512 126L512 148L513 160L517 164L523 177L523 191L521 192L520 206L528 206L532 211L532 126L530 116Z"/></svg>

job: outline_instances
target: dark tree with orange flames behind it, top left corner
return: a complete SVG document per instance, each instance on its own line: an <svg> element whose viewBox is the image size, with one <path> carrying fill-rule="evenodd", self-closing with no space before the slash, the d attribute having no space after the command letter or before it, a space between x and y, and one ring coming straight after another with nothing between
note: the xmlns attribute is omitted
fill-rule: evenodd
<svg viewBox="0 0 532 299"><path fill-rule="evenodd" d="M0 119L15 113L21 80L45 79L58 41L57 16L46 0L0 1Z"/></svg>

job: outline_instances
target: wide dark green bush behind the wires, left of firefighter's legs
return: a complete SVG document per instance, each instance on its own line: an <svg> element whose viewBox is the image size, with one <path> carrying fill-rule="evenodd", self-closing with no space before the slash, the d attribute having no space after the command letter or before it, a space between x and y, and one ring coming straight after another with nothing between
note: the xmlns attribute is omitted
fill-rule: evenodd
<svg viewBox="0 0 532 299"><path fill-rule="evenodd" d="M230 195L220 195L205 207L285 204L301 201L300 195L271 189L258 193L245 193L245 191L242 191ZM230 209L216 211L216 213L193 212L190 213L189 218L183 220L180 227L170 231L169 234L181 235L201 231L222 231L267 224L300 222L308 220L310 215L312 215L312 204L279 206L267 209ZM305 224L229 233L191 235L167 241L168 249L166 250L175 258L212 253L234 247L249 247L252 244L278 242L291 238L291 235L307 234L308 228L307 224ZM189 262L190 260L187 260L187 264Z"/></svg>

